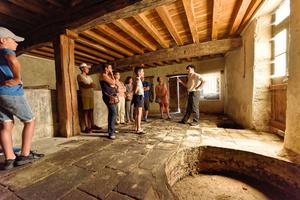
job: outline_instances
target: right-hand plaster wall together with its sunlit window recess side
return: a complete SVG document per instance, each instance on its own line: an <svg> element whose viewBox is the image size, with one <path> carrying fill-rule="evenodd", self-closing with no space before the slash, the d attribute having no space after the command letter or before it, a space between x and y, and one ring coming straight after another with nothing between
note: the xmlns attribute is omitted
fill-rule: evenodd
<svg viewBox="0 0 300 200"><path fill-rule="evenodd" d="M225 113L246 128L268 131L271 16L257 17L242 38L244 46L226 54Z"/></svg>

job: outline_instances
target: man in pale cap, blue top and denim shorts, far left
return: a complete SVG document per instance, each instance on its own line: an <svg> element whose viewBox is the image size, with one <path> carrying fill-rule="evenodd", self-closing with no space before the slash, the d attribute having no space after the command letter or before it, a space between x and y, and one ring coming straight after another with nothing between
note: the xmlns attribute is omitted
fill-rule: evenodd
<svg viewBox="0 0 300 200"><path fill-rule="evenodd" d="M30 163L42 156L30 151L35 119L24 96L21 65L15 53L17 42L23 40L7 28L0 27L0 143L5 156L4 170ZM24 123L21 154L17 156L12 144L14 116Z"/></svg>

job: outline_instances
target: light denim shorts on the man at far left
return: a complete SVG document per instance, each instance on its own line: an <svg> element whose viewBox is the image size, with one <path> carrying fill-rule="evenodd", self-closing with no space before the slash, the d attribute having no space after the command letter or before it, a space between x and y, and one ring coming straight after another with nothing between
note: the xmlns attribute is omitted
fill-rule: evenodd
<svg viewBox="0 0 300 200"><path fill-rule="evenodd" d="M25 96L0 95L0 122L13 121L14 116L22 122L34 119Z"/></svg>

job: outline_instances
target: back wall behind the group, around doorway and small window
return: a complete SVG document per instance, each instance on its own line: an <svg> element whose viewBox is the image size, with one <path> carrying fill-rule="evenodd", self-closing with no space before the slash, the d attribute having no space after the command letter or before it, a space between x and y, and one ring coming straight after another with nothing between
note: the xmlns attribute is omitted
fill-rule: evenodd
<svg viewBox="0 0 300 200"><path fill-rule="evenodd" d="M154 87L157 84L157 77L160 76L164 79L165 83L168 83L167 75L186 74L185 67L188 64L195 65L195 71L203 73L220 72L224 70L224 58L214 58L204 61L194 61L174 65L166 65L156 68L145 69L145 76L154 76ZM121 79L124 81L127 76L133 76L133 72L124 72L121 74ZM206 113L223 113L224 112L224 73L221 73L221 99L217 101L200 101L200 111ZM159 112L159 105L157 103L151 103L151 112Z"/></svg>

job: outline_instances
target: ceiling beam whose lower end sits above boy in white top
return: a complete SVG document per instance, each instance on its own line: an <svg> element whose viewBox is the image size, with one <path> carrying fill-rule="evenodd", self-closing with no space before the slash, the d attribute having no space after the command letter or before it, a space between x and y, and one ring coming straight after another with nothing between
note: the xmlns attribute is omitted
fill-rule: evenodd
<svg viewBox="0 0 300 200"><path fill-rule="evenodd" d="M105 24L99 25L99 26L96 26L96 29L99 30L101 33L104 33L107 36L113 38L114 40L120 42L121 44L125 45L126 47L129 47L133 51L140 53L140 54L144 53L143 49L141 49L140 47L135 45L133 42L131 42L130 40L125 38L120 33L116 32L115 30L110 28L108 25L105 25Z"/></svg>

